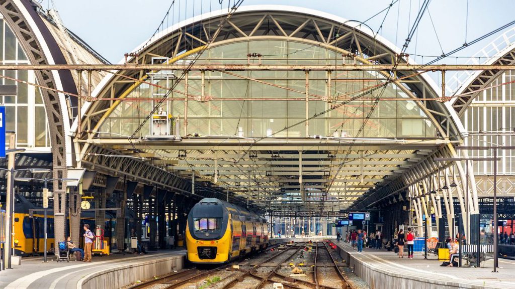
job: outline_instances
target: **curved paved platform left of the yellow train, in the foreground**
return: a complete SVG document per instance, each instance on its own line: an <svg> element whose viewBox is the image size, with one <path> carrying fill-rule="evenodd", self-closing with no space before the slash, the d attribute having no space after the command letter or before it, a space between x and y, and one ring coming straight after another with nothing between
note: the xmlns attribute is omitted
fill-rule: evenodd
<svg viewBox="0 0 515 289"><path fill-rule="evenodd" d="M146 255L115 254L93 257L91 263L56 262L49 256L22 260L20 266L0 272L0 288L5 289L93 289L121 288L138 280L150 279L182 269L186 250L160 250Z"/></svg>

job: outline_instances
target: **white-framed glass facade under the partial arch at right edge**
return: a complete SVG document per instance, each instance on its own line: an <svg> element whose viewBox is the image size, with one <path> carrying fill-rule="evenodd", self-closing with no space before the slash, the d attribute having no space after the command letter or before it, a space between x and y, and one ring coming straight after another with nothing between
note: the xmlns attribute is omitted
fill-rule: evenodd
<svg viewBox="0 0 515 289"><path fill-rule="evenodd" d="M477 95L461 117L470 133L466 146L515 146L515 71L505 71ZM503 83L508 83L501 85ZM499 174L515 174L515 151L499 150ZM491 156L492 151L469 151L469 156ZM493 174L493 162L474 162L477 174Z"/></svg>

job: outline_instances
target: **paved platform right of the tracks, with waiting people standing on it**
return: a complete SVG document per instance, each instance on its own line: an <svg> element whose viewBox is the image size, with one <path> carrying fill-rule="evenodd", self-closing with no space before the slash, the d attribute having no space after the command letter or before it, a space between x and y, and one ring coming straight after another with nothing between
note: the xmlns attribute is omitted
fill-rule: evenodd
<svg viewBox="0 0 515 289"><path fill-rule="evenodd" d="M414 259L399 259L393 251L364 248L357 252L348 243L335 242L340 256L354 273L371 288L515 288L515 261L499 259L499 272L493 273L493 260L474 267L440 267L436 256L424 260L422 252Z"/></svg>

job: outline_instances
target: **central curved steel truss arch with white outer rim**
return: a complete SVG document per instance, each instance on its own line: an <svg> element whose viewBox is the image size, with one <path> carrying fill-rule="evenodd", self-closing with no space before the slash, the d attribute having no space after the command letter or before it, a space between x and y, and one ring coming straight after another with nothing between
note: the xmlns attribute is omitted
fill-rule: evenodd
<svg viewBox="0 0 515 289"><path fill-rule="evenodd" d="M143 63L149 63L151 61L150 56L171 56L169 63L174 63L182 57L200 50L209 41L210 32L216 28L213 23L216 23L219 17L226 13L226 11L220 10L182 21L154 35L133 52L138 53L137 59L143 61ZM297 23L294 23L295 21ZM240 22L243 25L238 26ZM267 22L266 28L265 22ZM363 64L370 64L372 61L381 63L394 63L396 61L398 57L396 53L400 52L399 48L394 47L380 35L373 35L373 32L362 29L359 24L354 27L346 24L350 22L335 15L298 7L274 5L241 7L229 21L229 29L224 29L223 32L218 34L217 39L213 41L210 47L234 41L292 40L309 43L313 46L322 46L342 53L355 53L358 61ZM340 31L341 34L339 34ZM260 33L263 34L259 35ZM181 51L186 51L186 53L180 55ZM136 58L129 60L132 63L135 61ZM404 59L399 61L406 62ZM388 76L386 73L383 73L383 75ZM140 80L144 79L141 73L133 73L128 76ZM400 77L402 74L398 72L397 76ZM109 89L110 84L122 79L123 77L114 75L104 78L95 89L94 96L101 98L102 93ZM439 97L436 84L426 75L415 76L410 80L419 84L410 83L409 88L399 83L397 83L397 86L403 89L413 100L421 96ZM429 96L425 95L424 84L431 88L427 89ZM136 84L127 84L125 87L117 89L116 92L112 92L111 96L123 98L130 89L137 86ZM120 94L119 91L123 91L123 93ZM93 131L97 131L101 122L109 116L114 109L113 106L118 103L118 101L114 104L94 102L84 105L83 115L88 120L83 122L83 127L87 126L89 129L94 128ZM436 101L426 104L417 101L417 104L428 117L432 118L442 137L459 139L460 135L465 133L457 115L448 104L437 103ZM451 127L452 131L449 135L447 131L442 129L442 125L445 123ZM76 131L76 129L76 123L74 123L72 131Z"/></svg>

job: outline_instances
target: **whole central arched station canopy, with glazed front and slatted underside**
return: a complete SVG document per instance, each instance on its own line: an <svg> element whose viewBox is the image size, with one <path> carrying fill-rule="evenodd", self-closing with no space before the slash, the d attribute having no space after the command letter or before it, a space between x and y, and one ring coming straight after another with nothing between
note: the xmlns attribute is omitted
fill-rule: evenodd
<svg viewBox="0 0 515 289"><path fill-rule="evenodd" d="M440 170L433 157L455 155L464 130L440 88L417 71L367 70L409 60L366 25L266 5L239 8L216 33L226 13L160 31L127 59L184 69L135 67L101 82L73 126L83 166L173 189L102 160L130 155L217 197L306 215L397 202Z"/></svg>

